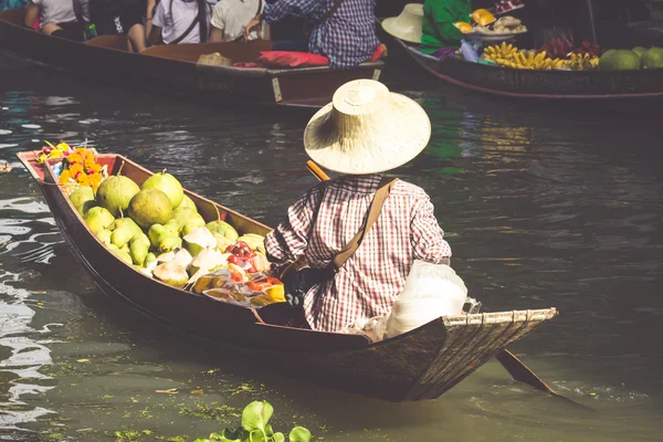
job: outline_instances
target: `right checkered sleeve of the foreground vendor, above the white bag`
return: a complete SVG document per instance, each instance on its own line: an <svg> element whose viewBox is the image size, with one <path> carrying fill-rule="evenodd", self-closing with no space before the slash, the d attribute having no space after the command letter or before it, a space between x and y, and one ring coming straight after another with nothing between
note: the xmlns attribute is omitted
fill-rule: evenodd
<svg viewBox="0 0 663 442"><path fill-rule="evenodd" d="M417 203L411 228L410 241L415 260L433 264L450 264L451 248L444 241L444 232L438 223L433 204L429 198Z"/></svg>

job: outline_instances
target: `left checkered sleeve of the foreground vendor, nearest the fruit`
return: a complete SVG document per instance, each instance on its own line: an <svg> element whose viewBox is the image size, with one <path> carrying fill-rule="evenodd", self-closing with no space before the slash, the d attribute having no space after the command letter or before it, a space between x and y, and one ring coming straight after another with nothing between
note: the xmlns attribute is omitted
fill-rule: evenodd
<svg viewBox="0 0 663 442"><path fill-rule="evenodd" d="M322 194L317 186L306 192L290 207L285 221L267 234L265 250L271 262L280 264L304 255Z"/></svg>

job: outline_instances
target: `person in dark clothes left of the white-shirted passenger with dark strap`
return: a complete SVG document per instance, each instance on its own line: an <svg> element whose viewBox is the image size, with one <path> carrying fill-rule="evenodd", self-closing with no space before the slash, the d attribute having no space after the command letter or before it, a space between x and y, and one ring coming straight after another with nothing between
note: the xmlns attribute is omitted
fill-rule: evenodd
<svg viewBox="0 0 663 442"><path fill-rule="evenodd" d="M126 34L133 52L143 52L147 48L144 9L144 0L90 0L90 13L97 35Z"/></svg>

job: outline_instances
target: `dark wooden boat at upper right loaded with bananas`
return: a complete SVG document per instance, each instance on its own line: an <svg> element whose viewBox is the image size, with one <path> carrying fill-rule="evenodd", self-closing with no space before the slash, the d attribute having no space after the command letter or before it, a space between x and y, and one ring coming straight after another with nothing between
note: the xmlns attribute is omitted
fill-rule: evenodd
<svg viewBox="0 0 663 442"><path fill-rule="evenodd" d="M393 39L424 70L445 83L504 98L547 102L623 103L663 98L663 70L529 71L422 54Z"/></svg>

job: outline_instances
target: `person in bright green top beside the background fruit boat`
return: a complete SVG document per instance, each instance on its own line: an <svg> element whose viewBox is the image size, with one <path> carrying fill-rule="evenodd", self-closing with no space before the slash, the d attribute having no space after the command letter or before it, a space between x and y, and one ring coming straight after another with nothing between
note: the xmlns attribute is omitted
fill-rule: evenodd
<svg viewBox="0 0 663 442"><path fill-rule="evenodd" d="M471 0L425 0L421 52L438 57L454 53L463 39L454 23L469 22L471 13Z"/></svg>

